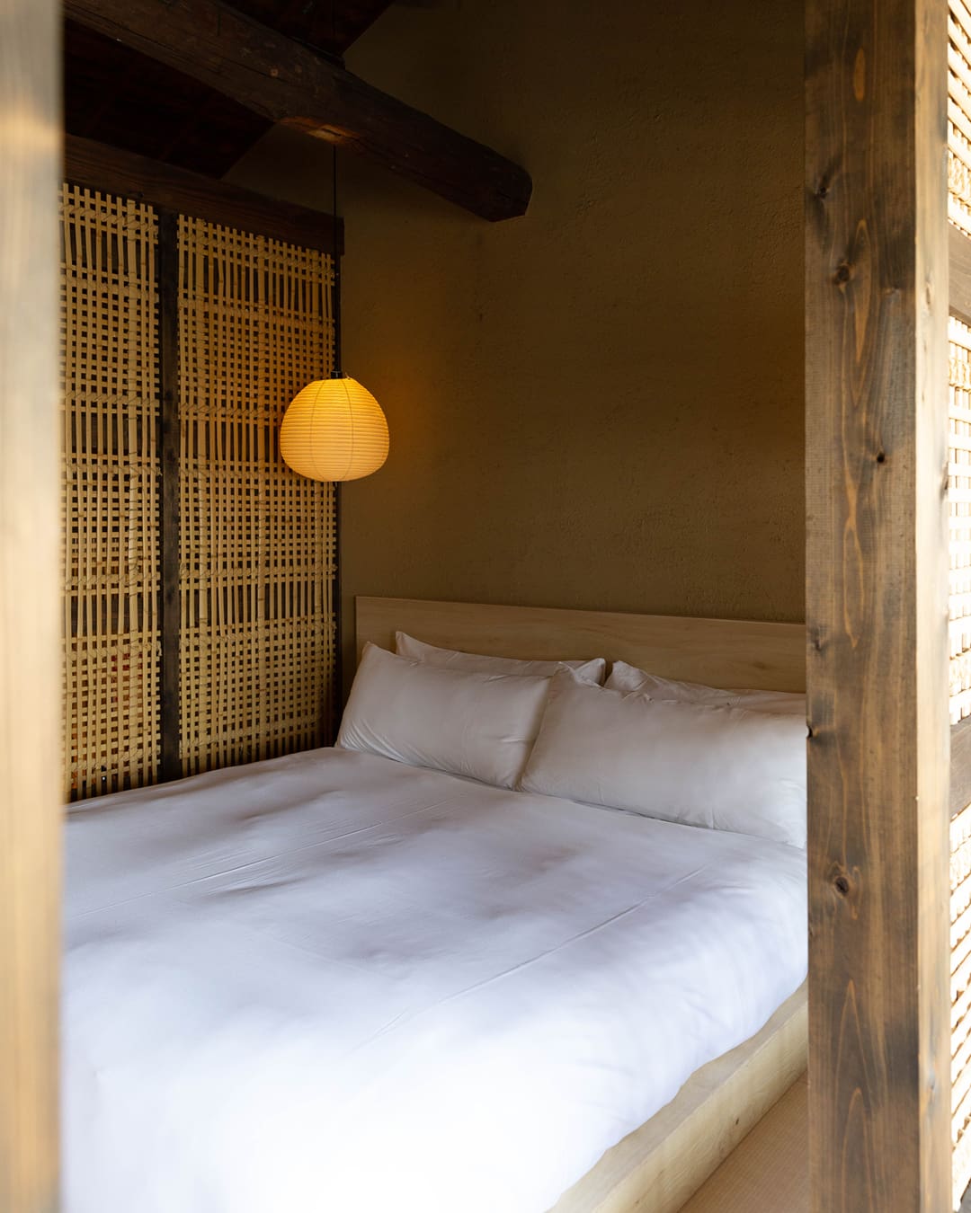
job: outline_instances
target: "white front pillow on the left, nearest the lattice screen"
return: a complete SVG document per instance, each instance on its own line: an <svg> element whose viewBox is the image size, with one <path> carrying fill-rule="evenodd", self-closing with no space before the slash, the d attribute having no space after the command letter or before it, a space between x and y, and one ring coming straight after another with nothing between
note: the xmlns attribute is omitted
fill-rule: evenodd
<svg viewBox="0 0 971 1213"><path fill-rule="evenodd" d="M549 685L549 678L441 670L365 644L337 745L512 787Z"/></svg>

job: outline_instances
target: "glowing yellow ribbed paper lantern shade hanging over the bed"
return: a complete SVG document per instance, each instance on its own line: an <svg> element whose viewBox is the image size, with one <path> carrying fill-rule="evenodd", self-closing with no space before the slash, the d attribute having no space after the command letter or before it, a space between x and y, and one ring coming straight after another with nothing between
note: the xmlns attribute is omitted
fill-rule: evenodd
<svg viewBox="0 0 971 1213"><path fill-rule="evenodd" d="M280 455L312 480L357 480L387 459L387 421L350 376L314 380L294 397L280 426Z"/></svg>

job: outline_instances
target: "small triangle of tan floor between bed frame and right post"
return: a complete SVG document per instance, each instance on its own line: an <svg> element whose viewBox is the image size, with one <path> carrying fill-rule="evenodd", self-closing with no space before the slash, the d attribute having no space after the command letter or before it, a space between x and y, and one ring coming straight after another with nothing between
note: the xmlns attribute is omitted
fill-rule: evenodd
<svg viewBox="0 0 971 1213"><path fill-rule="evenodd" d="M804 1075L681 1213L808 1213L806 1097Z"/></svg>

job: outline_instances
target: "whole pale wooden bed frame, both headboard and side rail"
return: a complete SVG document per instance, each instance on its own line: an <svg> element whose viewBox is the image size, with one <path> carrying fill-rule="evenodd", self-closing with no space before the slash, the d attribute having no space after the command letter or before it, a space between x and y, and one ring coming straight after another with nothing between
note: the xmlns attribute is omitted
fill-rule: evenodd
<svg viewBox="0 0 971 1213"><path fill-rule="evenodd" d="M357 651L430 644L523 659L624 660L714 687L806 689L801 623L541 606L358 598ZM550 1213L676 1213L806 1069L806 986L751 1040L697 1070L677 1097L608 1150Z"/></svg>

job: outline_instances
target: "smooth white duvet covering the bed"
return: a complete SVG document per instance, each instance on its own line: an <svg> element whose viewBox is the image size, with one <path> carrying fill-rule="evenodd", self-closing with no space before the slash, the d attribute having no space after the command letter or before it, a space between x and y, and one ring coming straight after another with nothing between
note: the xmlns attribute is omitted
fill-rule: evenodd
<svg viewBox="0 0 971 1213"><path fill-rule="evenodd" d="M318 750L67 828L67 1213L541 1213L806 973L805 855Z"/></svg>

